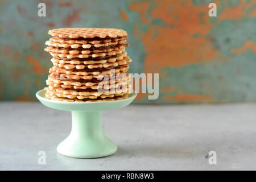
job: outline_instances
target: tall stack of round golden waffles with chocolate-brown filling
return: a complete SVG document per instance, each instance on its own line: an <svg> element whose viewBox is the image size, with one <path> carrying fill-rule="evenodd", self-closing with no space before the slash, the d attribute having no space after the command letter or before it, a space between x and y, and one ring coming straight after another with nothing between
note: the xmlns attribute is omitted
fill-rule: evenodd
<svg viewBox="0 0 256 182"><path fill-rule="evenodd" d="M53 67L46 97L57 101L95 102L127 98L129 63L127 32L114 28L59 28L44 51Z"/></svg>

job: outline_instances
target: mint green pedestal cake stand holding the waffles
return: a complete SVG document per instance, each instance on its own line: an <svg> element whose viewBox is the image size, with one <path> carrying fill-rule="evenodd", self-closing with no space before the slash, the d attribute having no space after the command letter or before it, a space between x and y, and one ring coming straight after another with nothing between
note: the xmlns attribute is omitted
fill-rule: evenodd
<svg viewBox="0 0 256 182"><path fill-rule="evenodd" d="M130 94L123 100L103 102L53 101L46 98L45 93L45 90L36 93L36 97L43 105L72 113L71 133L57 146L60 154L72 158L100 158L117 151L117 145L105 136L102 129L102 111L129 105L137 93Z"/></svg>

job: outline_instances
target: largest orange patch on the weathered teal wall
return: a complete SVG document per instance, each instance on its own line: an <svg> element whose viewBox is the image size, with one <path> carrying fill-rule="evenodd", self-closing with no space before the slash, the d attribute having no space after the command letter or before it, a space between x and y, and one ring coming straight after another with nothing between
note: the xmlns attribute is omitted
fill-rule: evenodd
<svg viewBox="0 0 256 182"><path fill-rule="evenodd" d="M217 59L218 50L212 49L211 40L205 38L213 27L208 11L205 11L205 6L193 5L191 1L185 2L155 1L156 8L151 11L148 10L147 3L134 2L130 6L132 11L141 15L144 19L142 22L148 26L148 30L142 35L146 48L144 72ZM171 11L170 7L173 7ZM151 13L149 18L146 16L147 11ZM152 24L150 18L163 20L167 26L173 28ZM195 34L201 36L195 38Z"/></svg>

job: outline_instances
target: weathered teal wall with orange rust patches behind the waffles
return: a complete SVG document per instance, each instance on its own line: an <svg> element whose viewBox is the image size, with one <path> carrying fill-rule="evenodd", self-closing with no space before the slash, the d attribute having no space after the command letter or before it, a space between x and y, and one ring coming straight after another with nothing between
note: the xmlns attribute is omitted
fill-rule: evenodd
<svg viewBox="0 0 256 182"><path fill-rule="evenodd" d="M45 2L47 17L37 15ZM208 4L217 3L217 17ZM160 73L158 100L256 100L256 1L0 1L0 99L35 100L51 56L47 31L114 27L129 34L131 73Z"/></svg>

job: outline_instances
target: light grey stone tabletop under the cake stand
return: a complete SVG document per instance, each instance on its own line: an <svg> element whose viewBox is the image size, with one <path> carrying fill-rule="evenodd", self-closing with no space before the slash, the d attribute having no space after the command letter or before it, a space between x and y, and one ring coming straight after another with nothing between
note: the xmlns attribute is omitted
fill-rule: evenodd
<svg viewBox="0 0 256 182"><path fill-rule="evenodd" d="M253 103L130 105L106 111L103 123L118 151L68 158L56 146L71 130L71 113L39 102L0 102L0 170L256 169ZM46 164L38 163L39 151Z"/></svg>

